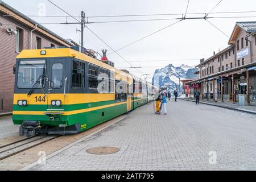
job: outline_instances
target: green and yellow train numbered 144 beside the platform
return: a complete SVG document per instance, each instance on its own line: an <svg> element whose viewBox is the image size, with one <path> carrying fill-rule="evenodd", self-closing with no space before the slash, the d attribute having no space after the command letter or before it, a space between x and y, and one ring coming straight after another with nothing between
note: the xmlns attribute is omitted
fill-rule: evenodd
<svg viewBox="0 0 256 182"><path fill-rule="evenodd" d="M158 88L81 47L22 51L14 69L20 135L75 134L155 99Z"/></svg>

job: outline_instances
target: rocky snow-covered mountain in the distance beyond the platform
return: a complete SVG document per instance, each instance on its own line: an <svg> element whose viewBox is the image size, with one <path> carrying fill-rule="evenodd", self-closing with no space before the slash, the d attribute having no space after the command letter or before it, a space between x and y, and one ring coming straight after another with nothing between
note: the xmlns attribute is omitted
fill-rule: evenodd
<svg viewBox="0 0 256 182"><path fill-rule="evenodd" d="M152 84L159 86L159 88L171 85L168 87L168 90L173 92L177 88L179 91L179 78L180 80L184 79L190 68L192 67L184 64L179 67L174 67L174 65L169 64L162 69L156 69L154 77L152 78ZM180 90L182 90L182 82L180 82Z"/></svg>

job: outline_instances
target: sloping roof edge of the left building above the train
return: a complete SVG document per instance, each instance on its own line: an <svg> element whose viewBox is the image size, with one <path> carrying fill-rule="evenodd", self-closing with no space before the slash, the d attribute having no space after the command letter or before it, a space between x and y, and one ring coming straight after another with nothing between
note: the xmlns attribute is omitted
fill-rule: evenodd
<svg viewBox="0 0 256 182"><path fill-rule="evenodd" d="M69 46L73 46L73 43L67 41L66 39L61 38L59 35L55 34L54 32L52 32L51 30L49 30L48 28L42 26L42 24L36 22L35 20L32 20L31 18L29 18L28 16L24 15L23 13L20 13L18 10L15 10L13 7L7 5L5 2L0 1L0 5L6 7L7 9L9 9L10 11L13 11L15 14L19 15L20 17L28 20L28 22L31 22L32 24L38 24L39 28L42 28L44 31L48 32L49 34L55 36L57 39L60 39L61 41L63 41L64 43L67 43Z"/></svg>

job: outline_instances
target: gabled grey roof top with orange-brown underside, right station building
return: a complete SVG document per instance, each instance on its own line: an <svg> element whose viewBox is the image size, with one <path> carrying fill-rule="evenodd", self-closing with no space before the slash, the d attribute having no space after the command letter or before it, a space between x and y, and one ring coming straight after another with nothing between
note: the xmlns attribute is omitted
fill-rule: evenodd
<svg viewBox="0 0 256 182"><path fill-rule="evenodd" d="M234 30L232 32L232 35L229 39L229 44L234 44L237 35L241 30L245 30L248 34L251 34L256 31L256 22L237 22L236 26L234 27Z"/></svg>

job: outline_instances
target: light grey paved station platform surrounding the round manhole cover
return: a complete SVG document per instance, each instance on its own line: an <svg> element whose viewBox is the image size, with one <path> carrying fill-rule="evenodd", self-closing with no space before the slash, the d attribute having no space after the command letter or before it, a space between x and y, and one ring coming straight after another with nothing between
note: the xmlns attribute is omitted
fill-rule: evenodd
<svg viewBox="0 0 256 182"><path fill-rule="evenodd" d="M178 100L154 104L22 170L255 170L255 115ZM113 154L90 154L115 147Z"/></svg>

